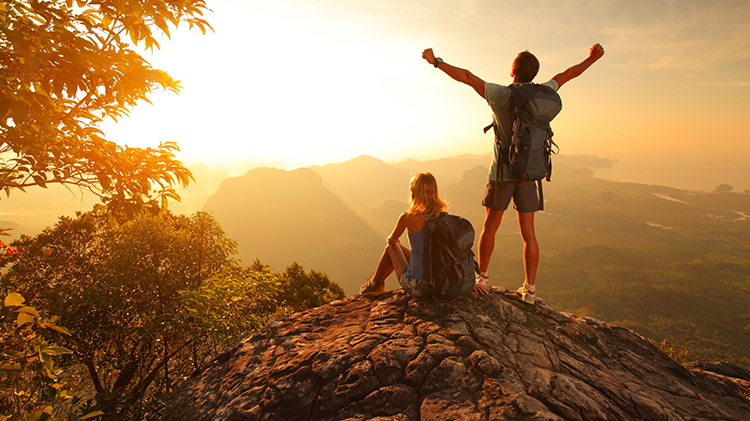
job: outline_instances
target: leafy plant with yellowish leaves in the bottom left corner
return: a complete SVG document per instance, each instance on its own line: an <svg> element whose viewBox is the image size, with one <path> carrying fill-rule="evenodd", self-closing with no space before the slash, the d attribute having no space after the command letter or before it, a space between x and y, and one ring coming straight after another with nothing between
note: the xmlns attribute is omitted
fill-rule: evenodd
<svg viewBox="0 0 750 421"><path fill-rule="evenodd" d="M92 419L101 412L83 417L70 413L56 416L55 407L75 401L60 381L61 369L54 358L70 350L49 343L42 331L70 335L56 324L57 317L43 320L24 298L10 293L0 302L0 419ZM75 403L75 402L73 402Z"/></svg>

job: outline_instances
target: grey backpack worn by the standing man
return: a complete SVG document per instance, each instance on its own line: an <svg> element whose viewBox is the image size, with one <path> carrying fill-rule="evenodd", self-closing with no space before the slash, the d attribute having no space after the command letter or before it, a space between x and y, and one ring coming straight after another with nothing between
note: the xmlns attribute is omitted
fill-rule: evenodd
<svg viewBox="0 0 750 421"><path fill-rule="evenodd" d="M503 179L503 165L510 169L513 178L522 181L536 181L539 186L539 210L544 209L542 182L552 178L552 154L558 147L552 141L552 121L562 109L560 95L547 85L538 83L518 83L508 86L511 92L510 108L513 112L512 135L505 148L500 139L500 132L493 122L484 128L495 129L495 142L501 156L497 157L498 169L496 183ZM557 149L557 150L553 150Z"/></svg>

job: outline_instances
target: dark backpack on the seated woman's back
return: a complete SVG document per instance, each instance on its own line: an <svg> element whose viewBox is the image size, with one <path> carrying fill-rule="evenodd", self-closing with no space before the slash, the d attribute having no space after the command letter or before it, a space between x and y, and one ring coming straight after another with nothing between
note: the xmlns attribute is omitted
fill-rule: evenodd
<svg viewBox="0 0 750 421"><path fill-rule="evenodd" d="M474 227L468 220L442 213L429 221L430 278L439 300L466 297L474 290L479 267L474 260Z"/></svg>

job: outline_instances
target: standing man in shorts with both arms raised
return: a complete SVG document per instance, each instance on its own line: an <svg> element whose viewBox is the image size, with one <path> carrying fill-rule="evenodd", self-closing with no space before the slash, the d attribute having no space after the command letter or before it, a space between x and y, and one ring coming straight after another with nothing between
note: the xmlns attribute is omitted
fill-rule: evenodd
<svg viewBox="0 0 750 421"><path fill-rule="evenodd" d="M550 81L543 85L553 90L559 90L566 82L578 77L592 64L604 55L604 48L600 44L591 47L588 57L581 63L571 66L562 73L558 73ZM523 182L510 174L508 166L503 163L501 168L502 180L498 186L495 181L498 178L497 157L500 151L508 150L510 136L512 135L513 109L511 108L511 89L508 86L494 83L485 83L470 71L461 69L446 63L440 57L435 57L431 48L424 50L422 58L427 60L436 68L442 70L458 82L465 83L487 100L492 108L493 123L502 145L495 144L490 175L487 181L482 205L486 208L482 233L479 236L479 270L477 275L476 290L480 294L486 294L489 288L489 276L487 270L495 248L495 233L500 227L503 214L508 208L511 197L513 205L518 213L518 224L523 237L523 263L526 279L523 286L518 289L523 300L528 304L534 303L536 294L536 271L539 266L539 245L534 231L534 212L539 210L539 194L536 183ZM539 61L528 50L518 54L513 60L510 75L514 84L529 83L539 71ZM500 150L498 150L500 148ZM497 196L497 197L496 197Z"/></svg>

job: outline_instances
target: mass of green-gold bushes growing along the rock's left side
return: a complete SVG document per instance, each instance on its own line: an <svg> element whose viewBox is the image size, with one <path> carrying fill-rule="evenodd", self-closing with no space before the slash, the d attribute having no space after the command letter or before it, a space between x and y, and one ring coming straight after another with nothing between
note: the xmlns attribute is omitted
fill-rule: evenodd
<svg viewBox="0 0 750 421"><path fill-rule="evenodd" d="M0 261L0 286L70 331L68 372L84 371L105 419L140 418L174 385L273 318L343 298L297 263L283 274L241 267L236 242L204 212L117 218L99 205ZM83 370L81 370L83 369Z"/></svg>

